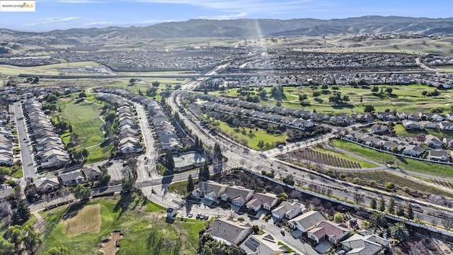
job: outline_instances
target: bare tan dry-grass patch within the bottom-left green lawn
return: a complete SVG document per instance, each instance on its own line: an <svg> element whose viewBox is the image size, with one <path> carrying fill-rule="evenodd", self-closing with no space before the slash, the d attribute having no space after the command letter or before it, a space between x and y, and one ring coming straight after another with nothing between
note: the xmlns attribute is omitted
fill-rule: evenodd
<svg viewBox="0 0 453 255"><path fill-rule="evenodd" d="M101 230L101 205L86 205L74 217L64 221L64 232L68 237L83 233L98 233Z"/></svg>

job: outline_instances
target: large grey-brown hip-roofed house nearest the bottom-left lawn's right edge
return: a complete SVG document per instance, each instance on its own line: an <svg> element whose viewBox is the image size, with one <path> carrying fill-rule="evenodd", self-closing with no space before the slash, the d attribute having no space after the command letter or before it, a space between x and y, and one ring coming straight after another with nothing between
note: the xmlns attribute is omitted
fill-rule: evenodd
<svg viewBox="0 0 453 255"><path fill-rule="evenodd" d="M205 231L217 241L224 242L227 245L239 245L251 232L252 228L250 225L239 225L239 222L233 222L225 218L214 220Z"/></svg>

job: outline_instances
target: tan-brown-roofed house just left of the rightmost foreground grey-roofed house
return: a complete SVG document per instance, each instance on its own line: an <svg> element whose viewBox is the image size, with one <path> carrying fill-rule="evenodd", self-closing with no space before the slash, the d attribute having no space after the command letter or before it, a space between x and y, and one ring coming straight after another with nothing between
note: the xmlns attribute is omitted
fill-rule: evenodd
<svg viewBox="0 0 453 255"><path fill-rule="evenodd" d="M328 242L338 244L341 239L350 234L350 230L346 225L337 224L330 220L323 220L309 229L307 236L314 242L319 243L321 240L327 239Z"/></svg>

